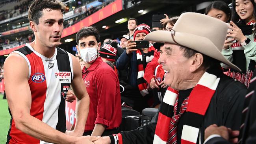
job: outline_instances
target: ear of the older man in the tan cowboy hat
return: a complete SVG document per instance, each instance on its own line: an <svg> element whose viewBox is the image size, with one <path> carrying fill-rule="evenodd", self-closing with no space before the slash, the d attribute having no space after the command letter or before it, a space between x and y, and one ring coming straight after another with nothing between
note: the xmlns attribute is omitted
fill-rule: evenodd
<svg viewBox="0 0 256 144"><path fill-rule="evenodd" d="M191 65L189 68L190 72L195 72L198 70L198 68L200 68L200 66L202 65L203 61L204 61L204 57L202 54L195 54L192 57L189 58L191 60Z"/></svg>

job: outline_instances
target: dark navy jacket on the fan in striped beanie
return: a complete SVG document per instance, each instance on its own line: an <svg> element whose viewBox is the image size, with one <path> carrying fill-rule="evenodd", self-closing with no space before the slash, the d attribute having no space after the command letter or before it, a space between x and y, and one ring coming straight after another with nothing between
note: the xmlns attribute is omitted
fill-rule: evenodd
<svg viewBox="0 0 256 144"><path fill-rule="evenodd" d="M128 63L128 84L132 85L132 87L137 88L137 56L136 52L132 52L131 54L126 54L126 50L120 55L117 59L115 66L118 70L123 70L126 68Z"/></svg>

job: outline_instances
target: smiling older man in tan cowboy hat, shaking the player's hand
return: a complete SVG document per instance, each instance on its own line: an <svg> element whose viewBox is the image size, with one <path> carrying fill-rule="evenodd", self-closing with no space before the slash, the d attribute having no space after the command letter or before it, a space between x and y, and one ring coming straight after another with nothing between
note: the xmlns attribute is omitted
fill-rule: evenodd
<svg viewBox="0 0 256 144"><path fill-rule="evenodd" d="M95 144L200 144L211 124L239 129L247 89L221 70L225 63L240 71L221 54L226 32L226 23L216 18L183 13L172 31L149 33L145 40L164 42L158 63L169 87L159 112L148 126Z"/></svg>

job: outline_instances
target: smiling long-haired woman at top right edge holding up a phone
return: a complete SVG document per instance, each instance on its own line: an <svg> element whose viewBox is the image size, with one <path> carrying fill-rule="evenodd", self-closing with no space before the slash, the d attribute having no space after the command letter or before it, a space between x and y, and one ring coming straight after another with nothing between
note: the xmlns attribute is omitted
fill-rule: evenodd
<svg viewBox="0 0 256 144"><path fill-rule="evenodd" d="M228 26L231 30L228 31L227 37L233 37L236 43L223 48L222 54L242 70L240 73L230 68L227 75L249 87L256 65L255 4L253 0L233 0L232 7L232 26ZM229 68L224 64L221 66Z"/></svg>

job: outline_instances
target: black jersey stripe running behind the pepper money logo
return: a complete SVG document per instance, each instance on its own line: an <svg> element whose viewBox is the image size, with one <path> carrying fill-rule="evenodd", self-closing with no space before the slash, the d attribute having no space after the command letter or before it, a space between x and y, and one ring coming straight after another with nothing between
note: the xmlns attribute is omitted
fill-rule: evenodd
<svg viewBox="0 0 256 144"><path fill-rule="evenodd" d="M57 47L57 55L56 60L58 63L58 69L60 72L71 72L70 63L69 63L69 54L62 50L61 48ZM72 79L72 72L71 72L71 79ZM61 91L63 91L63 85L70 86L70 83L61 83ZM59 110L58 110L58 123L56 126L56 129L58 131L61 131L65 133L66 131L66 114L65 114L65 98L63 98L63 95L60 93L61 102L59 104Z"/></svg>

